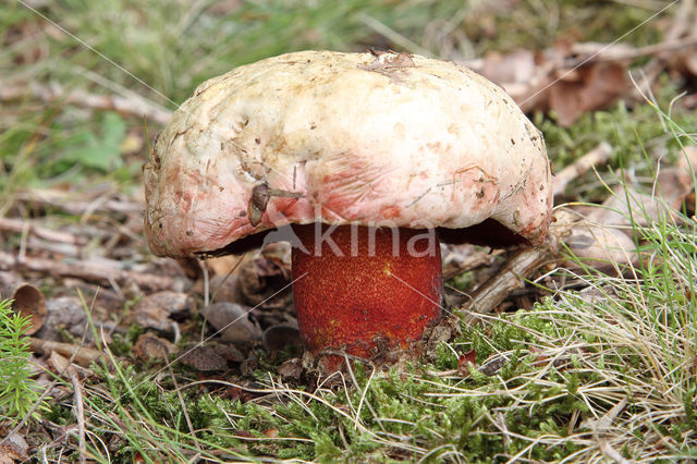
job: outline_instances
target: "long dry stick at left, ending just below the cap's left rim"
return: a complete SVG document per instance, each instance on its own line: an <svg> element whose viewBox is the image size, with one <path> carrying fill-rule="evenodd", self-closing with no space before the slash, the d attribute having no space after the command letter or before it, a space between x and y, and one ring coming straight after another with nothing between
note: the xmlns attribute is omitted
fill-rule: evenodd
<svg viewBox="0 0 697 464"><path fill-rule="evenodd" d="M28 270L59 277L73 277L87 282L97 282L111 286L111 281L119 284L134 282L142 289L154 291L168 290L174 286L174 279L146 272L137 272L122 268L119 261L84 261L62 262L53 259L26 256L19 259L12 254L0 251L0 269Z"/></svg>

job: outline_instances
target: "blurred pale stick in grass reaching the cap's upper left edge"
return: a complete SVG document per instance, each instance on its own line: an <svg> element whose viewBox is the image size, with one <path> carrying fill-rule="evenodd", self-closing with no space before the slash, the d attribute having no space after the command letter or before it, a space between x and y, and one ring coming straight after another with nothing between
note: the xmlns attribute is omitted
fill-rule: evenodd
<svg viewBox="0 0 697 464"><path fill-rule="evenodd" d="M154 106L144 99L115 95L96 95L81 89L66 90L57 83L49 85L0 83L0 101L20 100L27 97L39 99L46 103L62 101L66 105L76 105L96 110L111 110L136 117L145 115L148 120L159 124L166 124L172 114L169 110Z"/></svg>

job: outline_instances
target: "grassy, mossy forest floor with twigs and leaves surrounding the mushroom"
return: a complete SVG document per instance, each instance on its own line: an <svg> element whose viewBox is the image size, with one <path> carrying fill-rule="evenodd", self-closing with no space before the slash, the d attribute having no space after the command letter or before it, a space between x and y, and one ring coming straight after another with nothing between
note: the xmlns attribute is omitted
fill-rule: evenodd
<svg viewBox="0 0 697 464"><path fill-rule="evenodd" d="M0 11L0 463L697 457L695 1L147 4ZM418 358L318 369L284 244L145 241L178 105L303 49L462 63L545 135L550 239L444 247Z"/></svg>

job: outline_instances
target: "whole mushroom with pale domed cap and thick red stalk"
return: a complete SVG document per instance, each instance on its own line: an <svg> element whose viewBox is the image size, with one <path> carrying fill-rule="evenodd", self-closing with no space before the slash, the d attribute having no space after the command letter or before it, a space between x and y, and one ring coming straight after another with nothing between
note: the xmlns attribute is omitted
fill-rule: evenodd
<svg viewBox="0 0 697 464"><path fill-rule="evenodd" d="M407 347L441 313L440 242L539 244L551 218L540 132L458 64L302 51L203 83L144 166L158 256L293 245L311 352Z"/></svg>

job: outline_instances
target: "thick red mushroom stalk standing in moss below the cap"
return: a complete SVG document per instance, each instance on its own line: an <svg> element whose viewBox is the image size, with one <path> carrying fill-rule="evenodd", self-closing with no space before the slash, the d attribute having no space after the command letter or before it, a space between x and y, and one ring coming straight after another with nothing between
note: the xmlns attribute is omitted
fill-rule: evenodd
<svg viewBox="0 0 697 464"><path fill-rule="evenodd" d="M294 228L293 295L301 333L313 353L345 349L371 357L407 347L438 319L442 301L435 230Z"/></svg>

